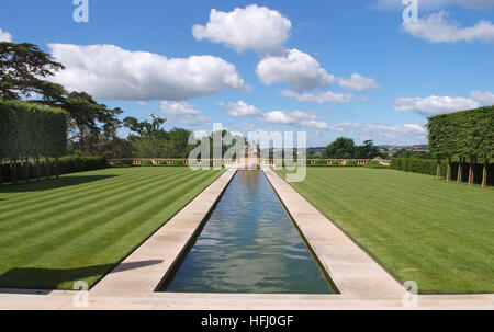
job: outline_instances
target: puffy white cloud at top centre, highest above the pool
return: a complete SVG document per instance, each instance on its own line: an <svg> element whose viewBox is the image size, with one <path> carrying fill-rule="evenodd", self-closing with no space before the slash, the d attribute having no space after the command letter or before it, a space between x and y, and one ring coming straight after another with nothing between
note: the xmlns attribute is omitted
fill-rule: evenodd
<svg viewBox="0 0 494 332"><path fill-rule="evenodd" d="M274 55L284 49L291 27L292 23L278 11L251 4L231 12L212 9L206 25L194 25L192 34L198 41L210 39L237 51L252 49Z"/></svg>

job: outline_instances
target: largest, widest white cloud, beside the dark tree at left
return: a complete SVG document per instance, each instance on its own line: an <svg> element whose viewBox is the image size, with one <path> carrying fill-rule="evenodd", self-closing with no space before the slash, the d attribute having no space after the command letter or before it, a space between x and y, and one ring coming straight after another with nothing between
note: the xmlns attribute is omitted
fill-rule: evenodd
<svg viewBox="0 0 494 332"><path fill-rule="evenodd" d="M53 81L97 99L182 101L218 93L227 87L249 89L234 65L213 56L169 59L114 45L48 44L48 47L66 67Z"/></svg>

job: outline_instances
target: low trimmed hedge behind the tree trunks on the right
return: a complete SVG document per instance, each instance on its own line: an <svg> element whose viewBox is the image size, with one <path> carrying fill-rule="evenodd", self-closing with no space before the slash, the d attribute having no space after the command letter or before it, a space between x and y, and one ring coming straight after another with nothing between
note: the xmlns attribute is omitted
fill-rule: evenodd
<svg viewBox="0 0 494 332"><path fill-rule="evenodd" d="M448 172L448 162L446 160L440 161L441 174L446 179ZM459 162L451 162L451 181L458 180L458 167ZM482 171L483 164L475 163L474 165L474 179L473 183L482 184ZM393 158L391 159L391 168L398 171L436 175L437 173L437 161L433 159L416 159L416 158ZM469 181L469 168L470 163L463 163L462 168L462 180L463 182ZM494 185L494 163L489 165L487 171L487 185Z"/></svg>

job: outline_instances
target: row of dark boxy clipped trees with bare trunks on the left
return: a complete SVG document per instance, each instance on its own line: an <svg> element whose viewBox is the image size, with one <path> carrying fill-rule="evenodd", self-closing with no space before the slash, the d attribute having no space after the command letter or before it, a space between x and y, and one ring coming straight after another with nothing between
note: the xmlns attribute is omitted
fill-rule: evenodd
<svg viewBox="0 0 494 332"><path fill-rule="evenodd" d="M0 99L0 165L4 160L10 161L14 182L18 161L29 172L30 160L35 160L37 179L42 158L47 159L47 178L48 158L55 158L58 169L58 158L64 156L67 146L67 121L68 113L60 108ZM23 178L30 179L29 175ZM0 183L1 179L0 173Z"/></svg>

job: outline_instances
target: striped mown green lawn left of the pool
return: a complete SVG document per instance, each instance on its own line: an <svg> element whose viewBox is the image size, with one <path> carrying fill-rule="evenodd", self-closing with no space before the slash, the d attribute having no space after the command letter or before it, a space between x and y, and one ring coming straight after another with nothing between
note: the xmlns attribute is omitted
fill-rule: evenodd
<svg viewBox="0 0 494 332"><path fill-rule="evenodd" d="M0 288L94 284L221 174L106 169L0 186Z"/></svg>

